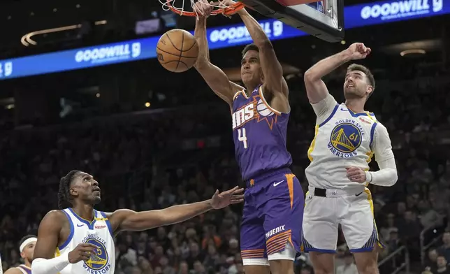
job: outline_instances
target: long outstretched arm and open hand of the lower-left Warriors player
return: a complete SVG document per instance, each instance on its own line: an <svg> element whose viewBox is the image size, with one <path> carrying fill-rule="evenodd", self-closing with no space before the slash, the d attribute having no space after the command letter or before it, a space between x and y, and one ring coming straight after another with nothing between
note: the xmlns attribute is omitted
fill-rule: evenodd
<svg viewBox="0 0 450 274"><path fill-rule="evenodd" d="M115 233L120 231L143 231L158 226L184 222L208 210L224 208L233 203L241 203L244 201L242 192L244 192L244 189L238 189L238 187L222 193L219 193L217 190L212 199L207 201L142 212L122 209L108 215Z"/></svg>

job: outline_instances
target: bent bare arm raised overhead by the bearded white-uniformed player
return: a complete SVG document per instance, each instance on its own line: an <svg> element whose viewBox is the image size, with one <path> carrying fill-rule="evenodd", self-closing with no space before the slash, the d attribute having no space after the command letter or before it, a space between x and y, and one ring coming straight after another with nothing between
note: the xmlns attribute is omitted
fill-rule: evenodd
<svg viewBox="0 0 450 274"><path fill-rule="evenodd" d="M322 81L325 75L350 60L364 59L370 54L370 51L370 48L366 48L363 43L353 43L347 50L327 57L308 69L304 78L306 93L310 103L319 103L319 101L326 98L328 89L324 81Z"/></svg>

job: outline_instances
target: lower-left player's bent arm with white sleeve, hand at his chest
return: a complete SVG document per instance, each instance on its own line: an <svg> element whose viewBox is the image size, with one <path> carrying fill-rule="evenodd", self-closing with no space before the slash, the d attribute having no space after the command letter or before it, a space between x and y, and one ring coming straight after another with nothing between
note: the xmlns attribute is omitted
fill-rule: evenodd
<svg viewBox="0 0 450 274"><path fill-rule="evenodd" d="M90 254L97 249L96 245L81 243L71 252L61 254L55 258L58 246L59 232L67 217L61 210L52 210L45 215L39 224L38 241L34 247L34 259L31 264L33 274L57 274L68 264L87 261Z"/></svg>

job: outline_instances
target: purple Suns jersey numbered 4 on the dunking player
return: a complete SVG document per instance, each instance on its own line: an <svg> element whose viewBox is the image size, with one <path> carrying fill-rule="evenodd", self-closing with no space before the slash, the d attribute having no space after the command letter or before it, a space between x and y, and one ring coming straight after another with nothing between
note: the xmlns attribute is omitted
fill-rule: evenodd
<svg viewBox="0 0 450 274"><path fill-rule="evenodd" d="M244 91L235 94L232 120L235 154L243 180L292 164L286 150L289 113L270 108L261 86L249 97Z"/></svg>

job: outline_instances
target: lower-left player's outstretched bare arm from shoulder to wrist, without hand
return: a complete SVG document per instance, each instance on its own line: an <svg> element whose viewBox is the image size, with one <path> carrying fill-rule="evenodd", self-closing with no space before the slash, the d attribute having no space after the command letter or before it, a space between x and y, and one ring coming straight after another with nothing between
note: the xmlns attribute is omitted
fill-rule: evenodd
<svg viewBox="0 0 450 274"><path fill-rule="evenodd" d="M119 231L143 231L157 226L184 222L211 209L210 200L142 212L122 209L116 210L110 215L110 222L116 233Z"/></svg>

